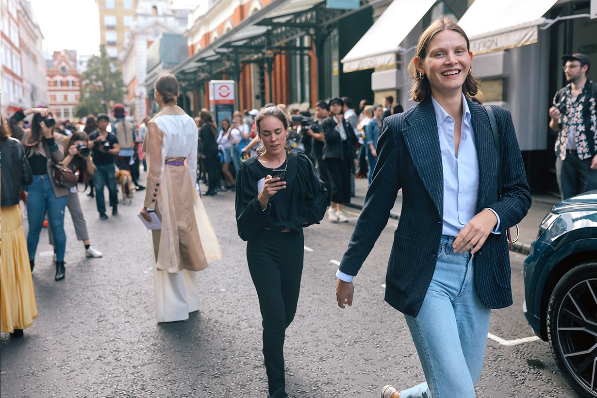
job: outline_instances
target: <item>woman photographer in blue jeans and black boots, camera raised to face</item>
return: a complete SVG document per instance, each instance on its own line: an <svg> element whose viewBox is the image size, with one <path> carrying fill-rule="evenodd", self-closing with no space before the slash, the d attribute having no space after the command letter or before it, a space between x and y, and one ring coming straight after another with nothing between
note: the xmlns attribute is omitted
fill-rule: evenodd
<svg viewBox="0 0 597 398"><path fill-rule="evenodd" d="M47 212L50 229L56 241L56 276L54 280L61 280L64 279L64 250L66 249L64 208L69 191L56 184L49 161L60 163L64 159L64 135L54 131L56 121L48 109L40 107L29 111L33 113L31 131L24 132L21 140L25 147L27 161L29 161L33 172L33 183L29 186L27 194L29 264L33 270L39 234Z"/></svg>

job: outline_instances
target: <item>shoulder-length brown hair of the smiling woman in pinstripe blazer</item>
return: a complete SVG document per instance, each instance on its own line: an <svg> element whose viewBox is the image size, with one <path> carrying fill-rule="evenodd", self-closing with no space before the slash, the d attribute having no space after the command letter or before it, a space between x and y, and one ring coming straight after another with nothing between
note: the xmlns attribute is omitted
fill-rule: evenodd
<svg viewBox="0 0 597 398"><path fill-rule="evenodd" d="M464 30L458 26L456 22L451 20L449 17L440 16L433 20L432 23L427 26L427 29L421 33L417 42L417 52L413 59L408 63L408 75L414 79L413 87L411 87L410 94L411 99L417 102L422 102L431 95L431 86L426 75L421 75L417 70L415 58L423 60L427 56L427 47L432 39L442 30L454 30L454 32L460 33L461 36L466 40L466 50L470 53L470 42L469 38L464 33ZM479 79L475 78L471 72L466 76L464 84L462 85L462 91L467 97L472 97L479 91L480 86Z"/></svg>

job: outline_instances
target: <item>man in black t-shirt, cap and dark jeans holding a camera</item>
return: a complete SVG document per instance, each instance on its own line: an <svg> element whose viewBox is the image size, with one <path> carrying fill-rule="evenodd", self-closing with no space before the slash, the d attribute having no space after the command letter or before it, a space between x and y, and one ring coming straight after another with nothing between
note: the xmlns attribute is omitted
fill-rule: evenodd
<svg viewBox="0 0 597 398"><path fill-rule="evenodd" d="M116 168L114 157L118 156L120 146L116 135L107 131L110 118L105 113L97 115L97 130L89 135L89 148L93 150L93 163L96 173L93 175L93 184L96 188L97 211L101 220L106 220L106 202L104 200L104 184L110 193L110 206L112 215L118 214L118 192L116 192Z"/></svg>

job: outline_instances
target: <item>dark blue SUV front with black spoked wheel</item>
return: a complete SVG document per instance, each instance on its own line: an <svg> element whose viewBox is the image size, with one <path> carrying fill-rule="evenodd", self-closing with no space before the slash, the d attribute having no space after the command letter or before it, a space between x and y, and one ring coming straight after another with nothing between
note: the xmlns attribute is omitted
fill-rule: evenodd
<svg viewBox="0 0 597 398"><path fill-rule="evenodd" d="M559 202L543 218L524 284L529 325L549 341L571 387L597 397L597 190Z"/></svg>

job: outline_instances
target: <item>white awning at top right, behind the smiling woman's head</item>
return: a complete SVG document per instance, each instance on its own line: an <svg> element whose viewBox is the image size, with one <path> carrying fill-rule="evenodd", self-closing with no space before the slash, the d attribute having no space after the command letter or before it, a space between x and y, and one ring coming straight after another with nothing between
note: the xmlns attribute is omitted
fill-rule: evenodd
<svg viewBox="0 0 597 398"><path fill-rule="evenodd" d="M558 0L475 0L458 25L473 54L491 53L537 42L543 16Z"/></svg>

